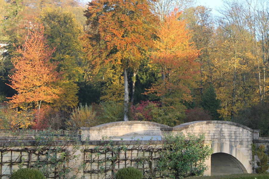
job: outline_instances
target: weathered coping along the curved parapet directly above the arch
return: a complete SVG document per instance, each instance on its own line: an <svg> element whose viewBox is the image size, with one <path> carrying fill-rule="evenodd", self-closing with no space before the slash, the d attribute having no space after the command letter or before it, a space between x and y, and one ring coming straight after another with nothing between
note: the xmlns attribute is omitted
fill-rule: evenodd
<svg viewBox="0 0 269 179"><path fill-rule="evenodd" d="M182 131L184 129L188 129L188 128L192 128L195 126L200 126L200 125L204 125L204 124L229 124L229 125L233 125L233 126L238 126L238 127L242 127L244 129L249 130L250 132L260 132L260 130L256 130L256 129L250 129L247 126L244 126L242 124L238 124L238 123L234 123L234 122L230 122L230 121L193 121L193 122L187 122L184 124L179 124L177 126L174 127L163 127L161 128L161 130L163 131Z"/></svg>

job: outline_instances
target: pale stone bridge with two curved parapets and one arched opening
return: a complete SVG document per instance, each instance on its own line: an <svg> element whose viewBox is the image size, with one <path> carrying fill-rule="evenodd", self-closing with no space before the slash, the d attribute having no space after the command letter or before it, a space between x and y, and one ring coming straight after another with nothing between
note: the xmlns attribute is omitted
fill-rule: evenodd
<svg viewBox="0 0 269 179"><path fill-rule="evenodd" d="M162 140L167 132L183 134L204 134L205 145L211 145L213 154L206 162L210 166L204 175L224 175L252 173L251 146L259 141L259 130L228 121L195 121L169 127L146 121L126 121L82 127L82 134L90 141L100 140L100 136L110 136L113 140Z"/></svg>

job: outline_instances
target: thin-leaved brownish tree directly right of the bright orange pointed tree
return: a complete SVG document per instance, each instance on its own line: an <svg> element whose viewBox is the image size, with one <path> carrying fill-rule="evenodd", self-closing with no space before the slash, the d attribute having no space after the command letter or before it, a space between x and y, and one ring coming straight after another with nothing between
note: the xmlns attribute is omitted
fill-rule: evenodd
<svg viewBox="0 0 269 179"><path fill-rule="evenodd" d="M211 9L204 6L190 7L184 11L182 17L187 21L187 28L191 33L191 41L200 50L197 61L200 63L200 94L204 86L212 81L212 41L214 35Z"/></svg>

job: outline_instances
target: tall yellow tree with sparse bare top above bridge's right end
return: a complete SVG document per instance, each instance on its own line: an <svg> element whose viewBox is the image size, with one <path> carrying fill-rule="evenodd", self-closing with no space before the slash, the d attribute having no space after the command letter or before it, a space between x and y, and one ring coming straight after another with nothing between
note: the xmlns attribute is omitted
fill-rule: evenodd
<svg viewBox="0 0 269 179"><path fill-rule="evenodd" d="M222 16L218 18L217 35L213 55L215 75L213 82L217 98L221 100L219 110L225 120L233 120L238 111L256 101L255 80L257 63L251 53L251 33L241 11L240 2L226 2ZM250 88L249 88L250 87Z"/></svg>

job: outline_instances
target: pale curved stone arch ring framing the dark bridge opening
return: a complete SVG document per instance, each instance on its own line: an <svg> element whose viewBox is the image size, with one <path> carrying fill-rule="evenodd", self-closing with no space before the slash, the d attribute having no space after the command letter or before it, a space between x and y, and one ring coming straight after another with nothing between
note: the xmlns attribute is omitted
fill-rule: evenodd
<svg viewBox="0 0 269 179"><path fill-rule="evenodd" d="M214 153L226 153L229 155L232 155L234 158L236 158L241 164L242 164L242 170L244 173L252 173L252 167L245 155L236 147L228 144L228 143L212 143L211 148L213 149Z"/></svg>

